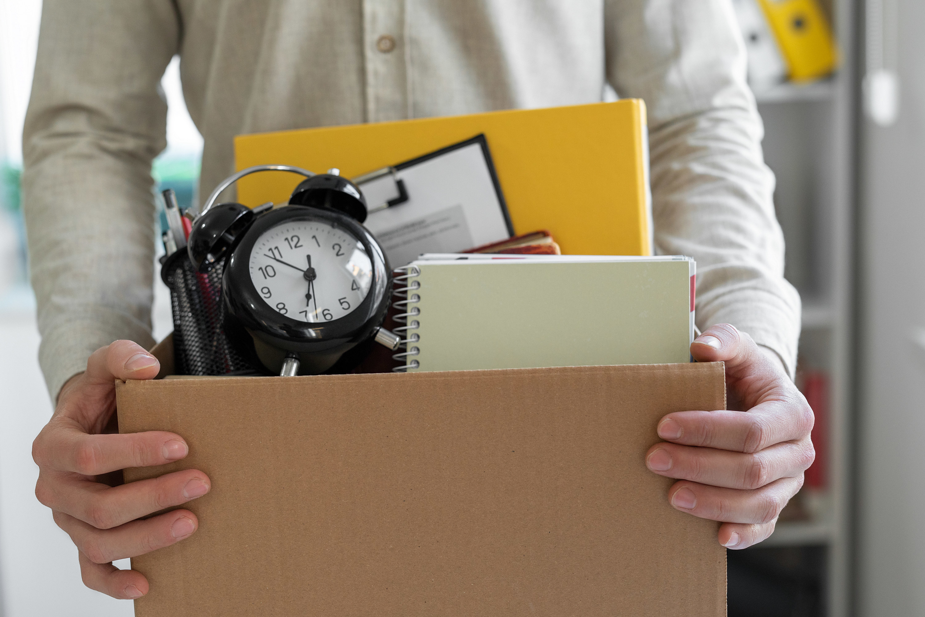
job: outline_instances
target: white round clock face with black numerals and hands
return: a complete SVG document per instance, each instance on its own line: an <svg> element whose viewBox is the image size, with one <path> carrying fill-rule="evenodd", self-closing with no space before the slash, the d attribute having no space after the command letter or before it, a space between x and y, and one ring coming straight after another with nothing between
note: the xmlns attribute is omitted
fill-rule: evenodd
<svg viewBox="0 0 925 617"><path fill-rule="evenodd" d="M319 220L267 229L253 244L249 267L253 287L270 308L309 323L349 315L373 281L363 244Z"/></svg>

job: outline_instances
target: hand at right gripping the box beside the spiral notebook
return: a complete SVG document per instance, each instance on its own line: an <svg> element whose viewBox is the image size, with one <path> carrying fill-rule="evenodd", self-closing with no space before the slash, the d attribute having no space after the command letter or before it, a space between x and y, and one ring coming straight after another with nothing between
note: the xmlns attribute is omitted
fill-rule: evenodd
<svg viewBox="0 0 925 617"><path fill-rule="evenodd" d="M771 536L803 486L813 413L777 356L729 324L709 327L691 354L726 363L727 406L741 411L669 413L646 465L681 480L668 491L674 508L722 522L720 544L745 549Z"/></svg>

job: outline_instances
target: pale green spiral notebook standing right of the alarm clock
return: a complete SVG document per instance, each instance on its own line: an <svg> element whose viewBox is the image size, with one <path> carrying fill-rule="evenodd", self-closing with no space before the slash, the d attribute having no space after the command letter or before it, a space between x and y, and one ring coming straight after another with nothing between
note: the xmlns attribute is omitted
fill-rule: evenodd
<svg viewBox="0 0 925 617"><path fill-rule="evenodd" d="M690 360L690 257L431 254L402 270L408 371Z"/></svg>

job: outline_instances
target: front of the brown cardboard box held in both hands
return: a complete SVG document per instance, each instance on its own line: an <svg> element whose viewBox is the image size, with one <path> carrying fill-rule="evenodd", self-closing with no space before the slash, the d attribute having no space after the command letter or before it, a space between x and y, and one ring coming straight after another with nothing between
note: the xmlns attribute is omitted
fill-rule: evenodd
<svg viewBox="0 0 925 617"><path fill-rule="evenodd" d="M717 364L117 383L119 429L176 431L199 531L132 560L171 615L725 614L717 524L648 472Z"/></svg>

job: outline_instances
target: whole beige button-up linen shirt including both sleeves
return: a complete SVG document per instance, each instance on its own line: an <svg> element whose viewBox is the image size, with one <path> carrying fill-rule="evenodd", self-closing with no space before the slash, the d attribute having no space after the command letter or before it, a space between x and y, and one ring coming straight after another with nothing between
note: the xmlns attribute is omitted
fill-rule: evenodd
<svg viewBox="0 0 925 617"><path fill-rule="evenodd" d="M240 133L591 103L606 83L644 99L655 244L697 259L698 326L732 323L794 370L800 302L729 0L45 0L23 195L53 396L96 348L154 342L176 54L201 195Z"/></svg>

